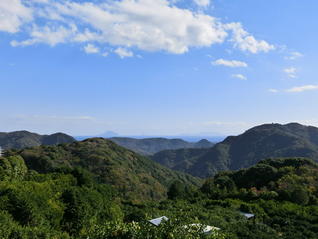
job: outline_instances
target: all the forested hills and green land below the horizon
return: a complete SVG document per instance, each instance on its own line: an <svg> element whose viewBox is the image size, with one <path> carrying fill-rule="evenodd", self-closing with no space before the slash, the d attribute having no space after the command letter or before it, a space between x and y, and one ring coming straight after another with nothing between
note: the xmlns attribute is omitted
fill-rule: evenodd
<svg viewBox="0 0 318 239"><path fill-rule="evenodd" d="M216 144L118 137L76 141L62 133L27 131L0 137L1 238L318 235L318 128L313 126L264 124ZM248 220L238 211L254 217ZM162 215L173 220L156 228L147 222ZM190 225L212 225L222 233L204 234L204 228Z"/></svg>

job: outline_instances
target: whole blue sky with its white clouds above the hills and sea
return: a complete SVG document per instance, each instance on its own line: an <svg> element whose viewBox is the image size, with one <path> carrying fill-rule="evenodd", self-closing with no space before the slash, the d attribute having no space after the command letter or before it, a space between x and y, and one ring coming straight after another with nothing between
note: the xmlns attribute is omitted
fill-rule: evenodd
<svg viewBox="0 0 318 239"><path fill-rule="evenodd" d="M1 0L0 131L318 126L316 0Z"/></svg>

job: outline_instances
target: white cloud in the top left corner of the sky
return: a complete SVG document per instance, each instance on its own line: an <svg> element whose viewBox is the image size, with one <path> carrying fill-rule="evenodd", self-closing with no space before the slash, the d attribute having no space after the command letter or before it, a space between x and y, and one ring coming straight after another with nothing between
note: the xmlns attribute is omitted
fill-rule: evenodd
<svg viewBox="0 0 318 239"><path fill-rule="evenodd" d="M33 20L33 11L21 0L0 0L0 31L16 33L23 23Z"/></svg>

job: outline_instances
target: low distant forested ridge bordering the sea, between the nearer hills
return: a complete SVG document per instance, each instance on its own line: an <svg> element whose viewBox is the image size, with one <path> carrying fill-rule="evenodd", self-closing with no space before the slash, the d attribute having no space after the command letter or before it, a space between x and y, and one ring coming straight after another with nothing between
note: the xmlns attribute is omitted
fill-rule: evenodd
<svg viewBox="0 0 318 239"><path fill-rule="evenodd" d="M117 143L120 146L131 149L143 156L148 156L157 153L163 149L176 149L176 148L199 148L211 147L214 143L207 140L200 140L197 143L190 143L182 139L165 139L165 138L147 138L147 139L134 139L127 137L113 137L109 140Z"/></svg>

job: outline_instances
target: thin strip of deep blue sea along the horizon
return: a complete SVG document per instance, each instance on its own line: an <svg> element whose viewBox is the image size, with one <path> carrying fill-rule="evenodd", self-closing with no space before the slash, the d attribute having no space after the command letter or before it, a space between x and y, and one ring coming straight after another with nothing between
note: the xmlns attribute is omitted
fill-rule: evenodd
<svg viewBox="0 0 318 239"><path fill-rule="evenodd" d="M93 138L93 137L97 137L97 136L73 136L73 138L75 138L77 141L82 141L88 138ZM187 142L199 142L200 140L208 140L209 142L221 142L223 141L225 138L227 138L227 136L191 136L191 135L127 135L127 136L116 136L116 137L128 137L128 138L134 138L134 139L148 139L148 138L166 138L166 139L182 139L184 141ZM108 137L107 137L108 138ZM112 137L109 137L112 138Z"/></svg>

